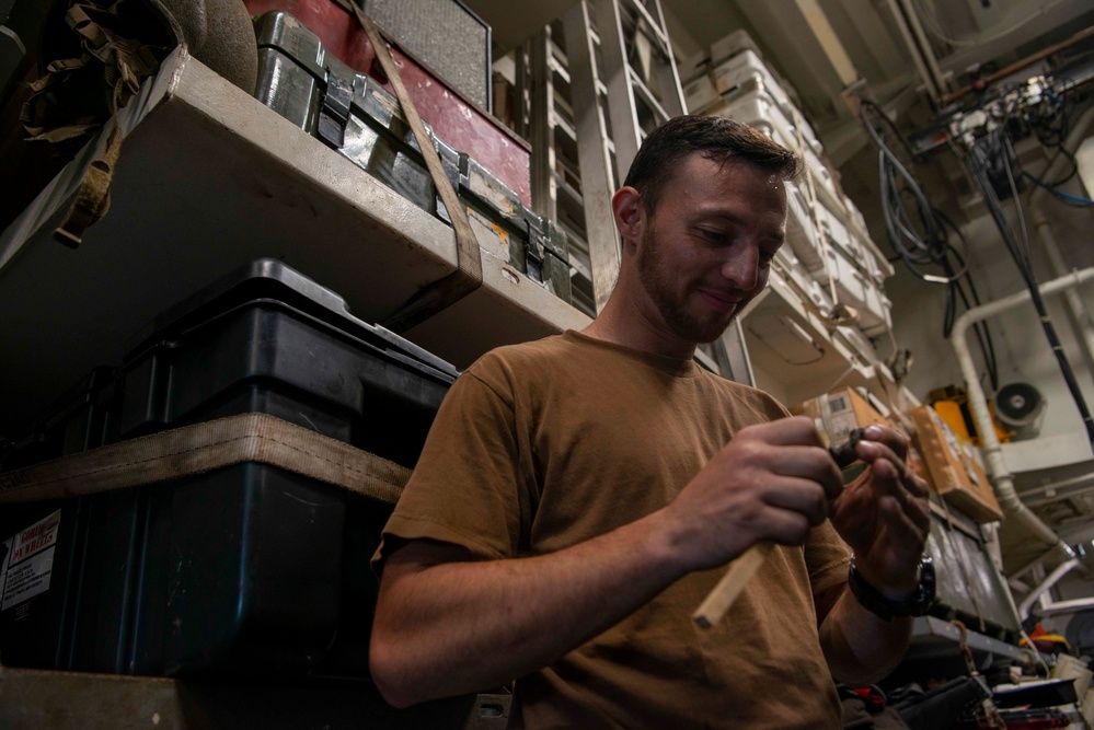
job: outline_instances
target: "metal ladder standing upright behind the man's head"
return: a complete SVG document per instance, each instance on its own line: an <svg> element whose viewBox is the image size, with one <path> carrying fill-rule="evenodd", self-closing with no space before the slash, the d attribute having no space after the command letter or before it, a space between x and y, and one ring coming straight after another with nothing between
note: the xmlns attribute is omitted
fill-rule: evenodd
<svg viewBox="0 0 1094 730"><path fill-rule="evenodd" d="M569 234L575 300L594 314L619 271L611 195L645 135L684 111L660 3L581 0L526 44L517 69L532 207Z"/></svg>

